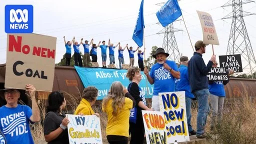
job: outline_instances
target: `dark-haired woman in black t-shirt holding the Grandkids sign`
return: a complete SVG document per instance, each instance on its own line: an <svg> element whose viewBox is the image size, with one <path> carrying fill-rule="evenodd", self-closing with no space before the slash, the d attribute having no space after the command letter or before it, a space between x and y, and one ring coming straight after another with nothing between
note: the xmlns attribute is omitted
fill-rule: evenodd
<svg viewBox="0 0 256 144"><path fill-rule="evenodd" d="M49 144L69 143L67 124L69 120L62 113L66 106L66 100L62 93L52 91L48 96L48 106L43 121L44 139Z"/></svg>

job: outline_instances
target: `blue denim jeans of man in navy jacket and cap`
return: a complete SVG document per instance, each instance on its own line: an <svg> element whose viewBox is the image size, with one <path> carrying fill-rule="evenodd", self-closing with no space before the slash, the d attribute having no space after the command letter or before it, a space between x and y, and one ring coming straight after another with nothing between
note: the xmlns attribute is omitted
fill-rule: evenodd
<svg viewBox="0 0 256 144"><path fill-rule="evenodd" d="M209 89L204 88L193 92L197 99L197 117L196 117L196 135L204 133L204 126L206 125L207 115L210 108L208 103Z"/></svg>

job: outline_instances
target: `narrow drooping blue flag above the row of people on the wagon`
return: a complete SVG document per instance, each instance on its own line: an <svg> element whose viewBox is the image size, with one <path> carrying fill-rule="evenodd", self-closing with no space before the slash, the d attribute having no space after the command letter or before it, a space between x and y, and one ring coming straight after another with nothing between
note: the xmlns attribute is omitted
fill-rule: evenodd
<svg viewBox="0 0 256 144"><path fill-rule="evenodd" d="M140 3L138 18L132 35L132 39L137 43L139 47L143 45L143 28L145 27L143 18L143 1L144 0L142 0Z"/></svg>

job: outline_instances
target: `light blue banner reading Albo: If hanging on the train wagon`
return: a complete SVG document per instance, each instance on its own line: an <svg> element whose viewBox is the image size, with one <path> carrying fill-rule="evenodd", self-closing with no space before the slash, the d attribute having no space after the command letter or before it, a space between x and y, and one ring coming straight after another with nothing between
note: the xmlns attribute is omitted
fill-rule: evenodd
<svg viewBox="0 0 256 144"><path fill-rule="evenodd" d="M104 69L104 68L85 68L74 66L84 87L95 86L98 89L97 99L103 99L107 95L108 90L113 81L120 81L126 88L130 81L126 77L126 69ZM144 93L145 98L151 98L153 95L153 84L151 85L147 81L146 87L146 76L141 71L142 79L139 82L139 87ZM146 92L147 89L147 92ZM147 94L148 93L148 94Z"/></svg>

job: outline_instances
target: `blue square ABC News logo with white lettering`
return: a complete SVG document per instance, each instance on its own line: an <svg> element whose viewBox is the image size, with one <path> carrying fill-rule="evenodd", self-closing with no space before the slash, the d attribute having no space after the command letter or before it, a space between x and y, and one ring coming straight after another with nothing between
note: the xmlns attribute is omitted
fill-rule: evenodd
<svg viewBox="0 0 256 144"><path fill-rule="evenodd" d="M33 6L5 5L5 32L32 33Z"/></svg>

